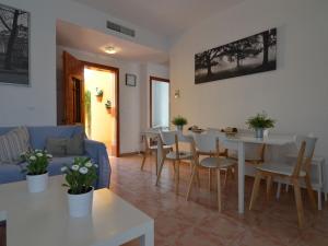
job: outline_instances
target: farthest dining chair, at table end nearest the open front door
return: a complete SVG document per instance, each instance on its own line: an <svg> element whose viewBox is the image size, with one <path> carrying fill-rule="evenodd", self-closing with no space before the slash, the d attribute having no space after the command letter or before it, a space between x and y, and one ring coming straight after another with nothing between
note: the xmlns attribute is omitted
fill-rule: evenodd
<svg viewBox="0 0 328 246"><path fill-rule="evenodd" d="M156 175L159 174L159 168L156 165L157 162L157 138L161 138L160 131L159 130L152 130L149 132L143 132L142 134L142 141L144 143L144 151L142 153L142 163L141 163L141 171L143 171L144 167L144 163L145 163L145 159L147 156L152 155L153 153L155 154L155 166L156 166ZM154 141L154 142L152 142ZM171 150L172 147L167 145L167 144L163 144L163 149L167 149Z"/></svg>

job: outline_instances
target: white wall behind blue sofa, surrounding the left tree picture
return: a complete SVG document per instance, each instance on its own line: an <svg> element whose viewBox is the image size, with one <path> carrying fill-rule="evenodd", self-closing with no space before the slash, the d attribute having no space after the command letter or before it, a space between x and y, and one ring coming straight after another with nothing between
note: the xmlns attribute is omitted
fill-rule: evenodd
<svg viewBox="0 0 328 246"><path fill-rule="evenodd" d="M1 3L31 12L31 86L0 84L0 126L55 125L56 33L52 4L42 0L1 0Z"/></svg>

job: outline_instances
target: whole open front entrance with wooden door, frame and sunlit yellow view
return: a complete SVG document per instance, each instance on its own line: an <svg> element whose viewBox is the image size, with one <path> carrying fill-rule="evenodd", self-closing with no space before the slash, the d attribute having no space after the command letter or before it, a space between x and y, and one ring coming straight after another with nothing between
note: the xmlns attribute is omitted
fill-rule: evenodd
<svg viewBox="0 0 328 246"><path fill-rule="evenodd" d="M63 125L82 125L89 139L119 156L119 70L63 52ZM60 102L60 101L59 101Z"/></svg>

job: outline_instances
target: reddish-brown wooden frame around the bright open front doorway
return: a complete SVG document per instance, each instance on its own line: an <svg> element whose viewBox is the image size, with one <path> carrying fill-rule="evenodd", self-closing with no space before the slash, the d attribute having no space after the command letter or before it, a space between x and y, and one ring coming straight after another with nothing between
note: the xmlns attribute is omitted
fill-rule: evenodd
<svg viewBox="0 0 328 246"><path fill-rule="evenodd" d="M117 107L116 109L116 157L120 156L120 129L119 129L119 69L115 68L115 67L110 67L110 66L106 66L106 65L98 65L98 63L94 63L94 62L90 62L90 61L84 61L81 60L81 62L83 63L84 68L85 67L92 67L95 69L101 69L101 70L107 70L107 71L112 71L115 73L116 75L116 80L115 80L115 105Z"/></svg>

